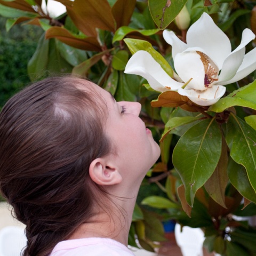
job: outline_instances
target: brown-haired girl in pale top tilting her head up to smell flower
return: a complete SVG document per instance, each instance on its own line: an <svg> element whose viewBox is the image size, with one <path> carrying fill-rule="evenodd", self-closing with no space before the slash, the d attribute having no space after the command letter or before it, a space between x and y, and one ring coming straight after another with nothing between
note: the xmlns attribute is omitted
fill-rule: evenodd
<svg viewBox="0 0 256 256"><path fill-rule="evenodd" d="M53 77L0 114L0 188L26 225L24 256L133 255L129 228L160 151L137 102L92 82Z"/></svg>

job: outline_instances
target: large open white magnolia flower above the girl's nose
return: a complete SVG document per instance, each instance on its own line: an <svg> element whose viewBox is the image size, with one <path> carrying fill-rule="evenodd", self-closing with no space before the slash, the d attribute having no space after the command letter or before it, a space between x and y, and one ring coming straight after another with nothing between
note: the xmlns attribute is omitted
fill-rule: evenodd
<svg viewBox="0 0 256 256"><path fill-rule="evenodd" d="M124 71L146 78L156 91L175 90L197 105L210 106L225 93L223 85L256 69L256 48L245 54L245 46L255 38L252 31L246 28L241 44L231 52L228 37L206 13L188 29L187 44L172 31L164 30L163 36L172 45L173 78L146 51L133 54Z"/></svg>

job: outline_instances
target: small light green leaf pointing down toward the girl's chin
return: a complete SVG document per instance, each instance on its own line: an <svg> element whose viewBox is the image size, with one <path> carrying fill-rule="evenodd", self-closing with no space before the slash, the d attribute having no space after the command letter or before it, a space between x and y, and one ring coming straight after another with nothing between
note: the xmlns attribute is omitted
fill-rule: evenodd
<svg viewBox="0 0 256 256"><path fill-rule="evenodd" d="M160 141L163 141L165 136L167 134L169 134L169 132L172 129L174 129L176 127L179 127L181 125L185 125L185 124L189 124L189 123L195 122L195 121L197 121L201 117L202 116L197 116L197 117L194 117L194 116L184 116L184 117L173 117L173 118L170 118L169 121L165 124L164 132L162 134L162 138L161 138Z"/></svg>

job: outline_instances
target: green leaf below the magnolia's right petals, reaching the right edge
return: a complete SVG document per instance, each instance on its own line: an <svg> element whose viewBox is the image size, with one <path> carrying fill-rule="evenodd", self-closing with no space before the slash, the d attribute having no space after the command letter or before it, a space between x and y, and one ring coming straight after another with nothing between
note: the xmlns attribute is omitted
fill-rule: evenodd
<svg viewBox="0 0 256 256"><path fill-rule="evenodd" d="M209 110L220 113L233 106L256 109L255 91L256 81L239 88L230 93L227 97L220 99L217 103L212 105Z"/></svg>

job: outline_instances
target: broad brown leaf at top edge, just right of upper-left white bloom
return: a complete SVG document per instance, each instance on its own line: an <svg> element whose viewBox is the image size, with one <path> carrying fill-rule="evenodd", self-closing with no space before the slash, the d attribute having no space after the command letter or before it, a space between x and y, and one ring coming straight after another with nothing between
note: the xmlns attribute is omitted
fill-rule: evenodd
<svg viewBox="0 0 256 256"><path fill-rule="evenodd" d="M85 35L96 37L96 28L115 31L115 20L107 0L76 0L67 13Z"/></svg>

